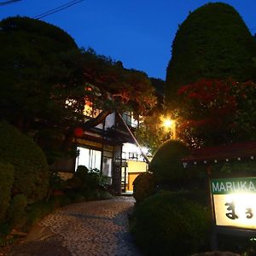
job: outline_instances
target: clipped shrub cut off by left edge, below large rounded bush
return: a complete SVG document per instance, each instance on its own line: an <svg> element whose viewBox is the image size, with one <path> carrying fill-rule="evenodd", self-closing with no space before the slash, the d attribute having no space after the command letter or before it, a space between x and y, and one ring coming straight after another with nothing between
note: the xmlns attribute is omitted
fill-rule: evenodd
<svg viewBox="0 0 256 256"><path fill-rule="evenodd" d="M14 183L14 167L0 163L0 223L5 218L11 199L11 189Z"/></svg>

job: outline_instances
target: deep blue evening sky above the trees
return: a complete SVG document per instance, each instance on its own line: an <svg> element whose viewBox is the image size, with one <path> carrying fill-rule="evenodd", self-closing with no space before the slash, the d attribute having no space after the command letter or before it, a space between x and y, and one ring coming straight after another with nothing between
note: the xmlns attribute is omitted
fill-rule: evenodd
<svg viewBox="0 0 256 256"><path fill-rule="evenodd" d="M0 0L3 3L6 0ZM34 17L71 0L22 0L0 6L0 19ZM84 0L42 20L68 32L84 48L122 61L127 68L165 79L178 24L204 0ZM217 1L211 1L217 2ZM256 0L226 0L256 32Z"/></svg>

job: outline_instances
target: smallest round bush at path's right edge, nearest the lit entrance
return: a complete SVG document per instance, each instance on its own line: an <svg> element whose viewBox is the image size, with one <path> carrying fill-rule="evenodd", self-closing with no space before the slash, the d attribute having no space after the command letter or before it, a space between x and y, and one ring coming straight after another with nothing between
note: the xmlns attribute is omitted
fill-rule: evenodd
<svg viewBox="0 0 256 256"><path fill-rule="evenodd" d="M133 182L133 197L137 202L141 202L149 195L154 194L155 187L154 175L149 172L143 172Z"/></svg>

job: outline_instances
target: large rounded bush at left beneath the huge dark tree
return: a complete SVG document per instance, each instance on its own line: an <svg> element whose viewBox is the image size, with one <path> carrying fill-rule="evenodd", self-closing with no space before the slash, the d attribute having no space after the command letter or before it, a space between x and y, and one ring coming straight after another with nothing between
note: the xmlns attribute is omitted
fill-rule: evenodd
<svg viewBox="0 0 256 256"><path fill-rule="evenodd" d="M6 122L0 122L0 161L14 166L13 195L25 195L28 203L47 195L49 166L44 153L30 137Z"/></svg>

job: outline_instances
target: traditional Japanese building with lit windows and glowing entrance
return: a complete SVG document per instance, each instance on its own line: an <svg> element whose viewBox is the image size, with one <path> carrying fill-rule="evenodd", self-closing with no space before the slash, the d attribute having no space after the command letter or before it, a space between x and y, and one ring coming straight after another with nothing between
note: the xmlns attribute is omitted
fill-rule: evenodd
<svg viewBox="0 0 256 256"><path fill-rule="evenodd" d="M138 122L132 113L123 113L120 117L113 112L99 125L81 130L74 142L77 145L77 157L57 161L51 168L59 172L63 179L72 177L77 166L98 169L108 177L108 185L116 195L121 195L122 191L132 191L133 180L140 172L146 172L148 165L134 145L124 121L131 131L137 128Z"/></svg>

